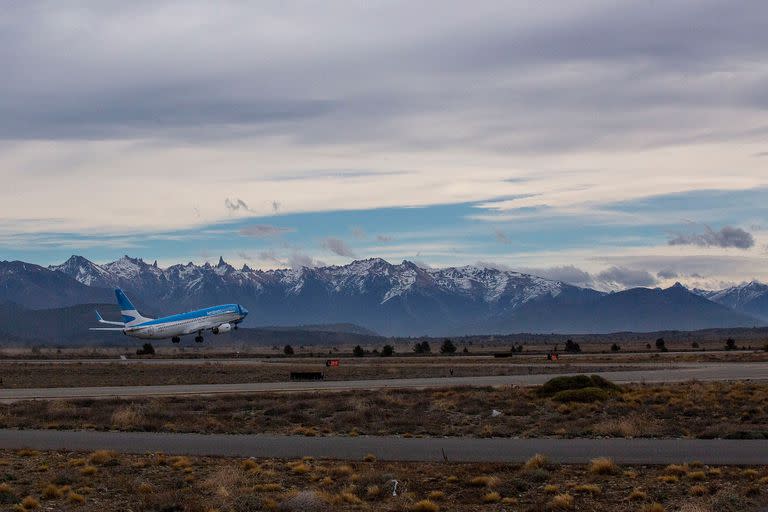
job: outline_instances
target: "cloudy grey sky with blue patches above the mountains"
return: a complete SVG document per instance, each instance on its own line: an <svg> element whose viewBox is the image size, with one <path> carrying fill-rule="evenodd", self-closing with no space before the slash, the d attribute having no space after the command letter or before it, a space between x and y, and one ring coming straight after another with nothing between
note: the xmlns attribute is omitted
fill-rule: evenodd
<svg viewBox="0 0 768 512"><path fill-rule="evenodd" d="M15 2L0 259L768 281L768 3Z"/></svg>

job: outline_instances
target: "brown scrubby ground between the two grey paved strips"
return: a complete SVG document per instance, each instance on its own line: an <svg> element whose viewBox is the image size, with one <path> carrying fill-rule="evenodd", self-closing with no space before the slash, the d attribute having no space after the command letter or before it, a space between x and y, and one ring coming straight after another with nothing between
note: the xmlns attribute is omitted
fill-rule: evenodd
<svg viewBox="0 0 768 512"><path fill-rule="evenodd" d="M23 401L0 427L299 435L768 438L768 383L633 384L561 402L536 388ZM498 411L494 415L493 411Z"/></svg>

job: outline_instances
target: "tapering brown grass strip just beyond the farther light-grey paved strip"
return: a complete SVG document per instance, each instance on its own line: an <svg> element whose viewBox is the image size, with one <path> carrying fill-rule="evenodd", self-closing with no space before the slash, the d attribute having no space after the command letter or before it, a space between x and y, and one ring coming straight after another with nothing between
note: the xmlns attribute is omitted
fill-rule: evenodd
<svg viewBox="0 0 768 512"><path fill-rule="evenodd" d="M325 360L255 360L238 363L200 362L190 364L153 363L49 363L5 362L0 379L6 388L141 386L160 384L235 384L280 382L293 371L323 372L325 380L395 379L409 377L469 377L478 375L526 375L530 373L595 372L627 369L625 365L583 366L561 362L521 364L495 358L377 358L369 361L342 361L329 368Z"/></svg>

